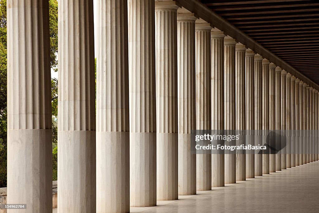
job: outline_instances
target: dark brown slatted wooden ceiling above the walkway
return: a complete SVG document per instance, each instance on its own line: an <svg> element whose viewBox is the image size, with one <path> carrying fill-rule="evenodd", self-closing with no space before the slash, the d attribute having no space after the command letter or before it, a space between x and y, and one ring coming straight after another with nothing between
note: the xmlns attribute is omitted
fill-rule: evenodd
<svg viewBox="0 0 319 213"><path fill-rule="evenodd" d="M319 85L319 0L201 0Z"/></svg>

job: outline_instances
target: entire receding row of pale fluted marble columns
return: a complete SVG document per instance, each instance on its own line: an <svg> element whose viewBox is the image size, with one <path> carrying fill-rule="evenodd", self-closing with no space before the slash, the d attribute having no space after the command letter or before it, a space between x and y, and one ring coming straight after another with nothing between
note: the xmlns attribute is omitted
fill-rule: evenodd
<svg viewBox="0 0 319 213"><path fill-rule="evenodd" d="M48 4L14 2L7 202L49 212ZM316 131L282 131L277 154L192 154L194 129L318 130L318 91L178 2L98 13L95 116L93 2L59 3L58 212L128 212L318 160Z"/></svg>

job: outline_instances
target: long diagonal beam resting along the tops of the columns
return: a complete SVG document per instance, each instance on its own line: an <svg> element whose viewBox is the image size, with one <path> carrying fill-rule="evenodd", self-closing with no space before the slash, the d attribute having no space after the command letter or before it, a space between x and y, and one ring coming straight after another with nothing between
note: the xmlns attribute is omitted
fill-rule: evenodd
<svg viewBox="0 0 319 213"><path fill-rule="evenodd" d="M291 73L292 75L296 76L300 80L306 82L308 85L319 90L319 86L315 82L310 80L308 77L303 75L301 72L298 72L295 68L293 68L291 65L286 63L282 58L279 58L277 55L275 55L274 53L272 53L268 49L265 49L261 44L259 44L254 39L249 37L249 35L243 33L237 27L230 24L226 19L222 18L220 15L211 11L211 9L209 9L204 4L200 3L198 0L177 0L177 2L179 2L185 9L189 10L190 12L196 13L201 19L211 23L214 27L223 31L226 35L229 35L230 37L235 38L238 42L245 44L247 48L250 48L250 49L256 51L256 53L263 56L264 58L267 58L275 65L281 67L282 69L284 69L287 72ZM307 12L306 17L310 17L309 14L311 14L312 11L318 11L318 9L308 9L308 10L301 9L301 10L295 10L294 12L297 13L300 11ZM282 12L284 12L284 11L281 11L281 12L270 11L270 12L266 12L266 13L265 12L250 12L250 14L276 14L276 13L282 13ZM243 13L238 13L238 14L243 14ZM236 15L236 13L233 15ZM280 14L280 15L285 15L285 14ZM318 16L318 14L316 14L316 16ZM301 16L299 15L299 16L295 16L295 17L301 17ZM273 39L273 41L275 41L275 40L276 39Z"/></svg>

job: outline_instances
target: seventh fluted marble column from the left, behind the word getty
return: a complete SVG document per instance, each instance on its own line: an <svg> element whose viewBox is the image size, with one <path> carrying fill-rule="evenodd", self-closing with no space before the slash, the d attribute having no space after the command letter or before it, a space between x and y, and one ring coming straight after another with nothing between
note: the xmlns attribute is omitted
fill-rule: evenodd
<svg viewBox="0 0 319 213"><path fill-rule="evenodd" d="M196 129L211 129L211 24L195 24ZM211 190L211 154L196 155L197 191Z"/></svg>

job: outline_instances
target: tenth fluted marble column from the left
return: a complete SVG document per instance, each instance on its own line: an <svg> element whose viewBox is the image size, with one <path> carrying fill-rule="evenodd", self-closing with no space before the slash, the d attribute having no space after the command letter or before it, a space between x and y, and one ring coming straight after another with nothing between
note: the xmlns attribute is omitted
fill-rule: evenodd
<svg viewBox="0 0 319 213"><path fill-rule="evenodd" d="M245 45L236 45L236 130L246 129L246 50ZM241 136L239 143L245 141L244 136ZM246 155L242 150L236 151L237 180L246 180Z"/></svg>

